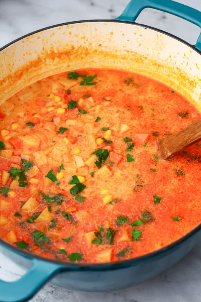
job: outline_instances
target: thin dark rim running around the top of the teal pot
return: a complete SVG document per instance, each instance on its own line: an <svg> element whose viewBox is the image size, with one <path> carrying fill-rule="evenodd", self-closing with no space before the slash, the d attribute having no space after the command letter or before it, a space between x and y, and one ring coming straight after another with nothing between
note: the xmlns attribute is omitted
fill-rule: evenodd
<svg viewBox="0 0 201 302"><path fill-rule="evenodd" d="M41 31L45 31L47 29L50 28L54 28L54 27L58 27L58 26L63 26L63 25L69 25L69 24L77 24L77 23L86 23L86 22L115 22L115 23L126 23L126 24L132 24L132 25L137 25L140 27L143 27L144 29L151 29L154 31L157 31L159 33L165 34L173 39L176 39L179 42L182 42L183 44L187 45L188 47L190 47L191 49L193 49L194 51L196 51L197 53L199 53L201 55L201 51L199 51L194 45L186 42L185 40L178 38L176 36L174 36L173 34L167 33L166 31L162 31L159 30L155 27L151 27L151 26L147 26L144 24L140 24L140 23L136 23L136 22L130 22L130 21L121 21L121 20L102 20L102 19L95 19L95 20L80 20L80 21L72 21L72 22L65 22L65 23L61 23L61 24L55 24L55 25L51 25L51 26L47 26L44 27L42 29L33 31L29 34L26 34L24 36L21 36L13 41L11 41L10 43L7 43L5 46L0 48L0 51L6 49L7 47L9 47L10 45L14 44L17 41L20 41L26 37L29 37L33 34L39 33ZM186 235L184 235L183 237L179 238L178 240L174 241L173 243L158 249L154 252L139 256L139 257L134 257L134 258L130 258L127 260L121 260L121 261L116 261L116 262L109 262L109 263L87 263L87 264L79 264L79 263L69 263L69 262L64 262L64 261L57 261L57 260L52 260L52 259L47 259L38 255L32 255L30 252L26 252L24 250L20 250L19 248L17 248L16 246L12 246L10 243L7 243L6 241L4 241L3 239L0 238L0 245L6 246L7 248L11 249L13 252L17 252L17 254L19 254L20 256L25 256L26 258L30 259L30 260L40 260L40 261L45 261L45 262L50 262L50 263L54 263L54 264L58 264L59 266L63 266L64 268L71 268L71 269L95 269L95 270L103 270L103 269L118 269L118 268L123 268L126 266L133 266L136 264L136 262L139 261L143 261L143 260L148 260L149 258L153 258L156 255L160 255L166 251L171 251L171 249L174 249L174 247L177 247L180 243L184 242L185 240L189 239L191 236L193 236L194 234L196 234L199 230L201 230L201 223L199 223L198 226L196 226L195 228L193 228L193 230L191 230L189 233L187 233Z"/></svg>

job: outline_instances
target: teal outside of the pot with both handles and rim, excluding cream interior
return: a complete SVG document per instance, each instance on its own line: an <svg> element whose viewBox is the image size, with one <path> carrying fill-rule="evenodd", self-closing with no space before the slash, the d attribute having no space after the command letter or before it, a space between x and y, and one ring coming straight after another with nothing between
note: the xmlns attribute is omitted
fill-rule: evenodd
<svg viewBox="0 0 201 302"><path fill-rule="evenodd" d="M132 0L121 16L110 22L134 22L146 7L169 12L201 27L200 11L171 0ZM175 37L173 38L175 39ZM201 54L201 35L195 46L184 41L181 42ZM12 43L0 51L6 50ZM50 279L52 279L51 283L57 286L79 291L111 291L131 287L174 265L200 239L201 224L186 236L163 249L138 258L109 264L69 264L51 261L21 251L0 239L0 250L23 268L28 268L27 273L17 281L5 282L0 280L0 301L26 301Z"/></svg>

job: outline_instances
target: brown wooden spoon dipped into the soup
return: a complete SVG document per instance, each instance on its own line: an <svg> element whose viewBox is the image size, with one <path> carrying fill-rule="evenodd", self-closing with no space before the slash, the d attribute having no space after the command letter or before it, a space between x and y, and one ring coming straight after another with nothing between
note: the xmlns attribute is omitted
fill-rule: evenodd
<svg viewBox="0 0 201 302"><path fill-rule="evenodd" d="M201 140L201 119L183 130L159 141L159 149L163 159L170 159L176 153Z"/></svg>

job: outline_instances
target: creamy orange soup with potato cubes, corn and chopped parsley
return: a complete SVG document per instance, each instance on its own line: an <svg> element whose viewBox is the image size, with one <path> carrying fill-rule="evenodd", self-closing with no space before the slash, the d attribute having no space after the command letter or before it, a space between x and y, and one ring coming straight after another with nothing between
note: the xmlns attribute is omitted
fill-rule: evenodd
<svg viewBox="0 0 201 302"><path fill-rule="evenodd" d="M157 141L201 118L171 88L83 69L0 107L0 237L67 262L130 259L201 221L201 144L169 161Z"/></svg>

